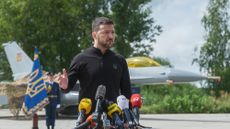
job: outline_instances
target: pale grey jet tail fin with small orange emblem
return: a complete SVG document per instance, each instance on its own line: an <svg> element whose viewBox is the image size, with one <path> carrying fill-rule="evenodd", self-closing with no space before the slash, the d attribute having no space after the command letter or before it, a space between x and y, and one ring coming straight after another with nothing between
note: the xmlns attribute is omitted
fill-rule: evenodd
<svg viewBox="0 0 230 129"><path fill-rule="evenodd" d="M18 46L16 42L7 42L3 44L10 68L13 72L14 80L23 79L31 73L33 61Z"/></svg>

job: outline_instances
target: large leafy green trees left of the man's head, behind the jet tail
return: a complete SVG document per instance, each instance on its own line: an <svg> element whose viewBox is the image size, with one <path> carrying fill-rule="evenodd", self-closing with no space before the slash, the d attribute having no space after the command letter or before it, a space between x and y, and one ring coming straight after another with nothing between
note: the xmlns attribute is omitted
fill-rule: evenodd
<svg viewBox="0 0 230 129"><path fill-rule="evenodd" d="M44 69L56 72L68 67L76 53L91 45L91 21L104 14L104 2L7 0L1 2L4 20L13 31L5 31L12 35L10 40L19 42L30 57L37 46Z"/></svg>

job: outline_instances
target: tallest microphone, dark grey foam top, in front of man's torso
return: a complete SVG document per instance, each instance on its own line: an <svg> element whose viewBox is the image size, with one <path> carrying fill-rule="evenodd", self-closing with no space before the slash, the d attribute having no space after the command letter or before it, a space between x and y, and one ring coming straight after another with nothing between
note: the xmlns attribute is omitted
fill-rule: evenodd
<svg viewBox="0 0 230 129"><path fill-rule="evenodd" d="M95 108L95 112L92 114L92 119L94 122L97 123L97 126L99 126L98 124L100 122L101 114L103 113L102 102L104 100L105 93L106 93L106 87L104 85L98 86L95 95L95 99L97 100L96 108Z"/></svg>

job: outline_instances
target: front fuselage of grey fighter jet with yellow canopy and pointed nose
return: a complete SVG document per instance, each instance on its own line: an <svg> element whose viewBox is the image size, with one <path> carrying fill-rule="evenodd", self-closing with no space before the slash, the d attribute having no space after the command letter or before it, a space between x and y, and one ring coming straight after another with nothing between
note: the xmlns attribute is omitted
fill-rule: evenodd
<svg viewBox="0 0 230 129"><path fill-rule="evenodd" d="M161 66L148 57L133 57L126 60L132 84L172 84L206 79L220 80L218 76L204 76L199 73Z"/></svg>

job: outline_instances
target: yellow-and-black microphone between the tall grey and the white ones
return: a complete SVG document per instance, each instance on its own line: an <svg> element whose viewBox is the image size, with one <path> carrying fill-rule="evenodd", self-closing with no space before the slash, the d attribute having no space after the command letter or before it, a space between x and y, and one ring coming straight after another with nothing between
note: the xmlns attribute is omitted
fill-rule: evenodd
<svg viewBox="0 0 230 129"><path fill-rule="evenodd" d="M108 102L107 103L107 114L110 118L114 120L115 125L118 126L118 129L124 129L124 123L121 121L119 114L121 114L121 109L116 103Z"/></svg>

